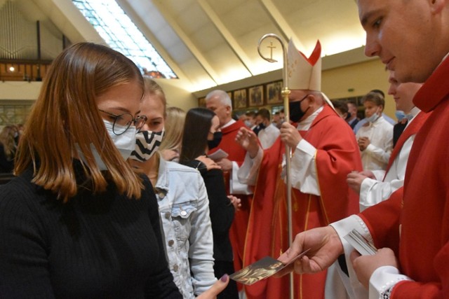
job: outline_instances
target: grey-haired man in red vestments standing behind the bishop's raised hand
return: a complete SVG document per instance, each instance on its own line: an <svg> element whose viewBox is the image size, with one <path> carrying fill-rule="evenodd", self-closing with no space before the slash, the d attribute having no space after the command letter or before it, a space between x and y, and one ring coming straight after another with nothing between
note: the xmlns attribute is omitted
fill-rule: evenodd
<svg viewBox="0 0 449 299"><path fill-rule="evenodd" d="M214 111L218 116L222 130L222 141L216 148L209 151L208 155L211 155L210 158L222 167L228 195L234 195L241 200L241 208L236 212L232 227L229 230L229 239L234 251L234 270L237 271L242 268L250 200L253 194L252 188L239 183L236 176L237 169L243 162L246 151L236 144L235 139L239 129L246 127L246 125L243 121L232 118L232 101L227 92L223 90L213 90L208 93L206 108ZM214 158L213 153L220 150L227 153L226 158Z"/></svg>

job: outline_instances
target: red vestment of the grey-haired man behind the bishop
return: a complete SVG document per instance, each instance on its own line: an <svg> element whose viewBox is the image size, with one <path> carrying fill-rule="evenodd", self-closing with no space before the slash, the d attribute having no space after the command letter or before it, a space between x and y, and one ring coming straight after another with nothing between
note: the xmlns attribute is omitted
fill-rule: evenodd
<svg viewBox="0 0 449 299"><path fill-rule="evenodd" d="M246 127L245 124L238 120L236 123L229 125L222 129L222 141L217 148L209 151L208 154L214 153L219 148L229 154L227 159L237 162L240 166L245 160L246 151L236 143L236 134L241 127ZM225 172L226 190L229 195L229 172ZM237 211L232 221L231 229L229 230L229 239L231 240L232 250L234 251L234 270L240 270L243 263L243 248L245 246L246 228L248 227L249 209L251 195L235 194L241 199L241 209ZM229 273L231 274L231 273Z"/></svg>

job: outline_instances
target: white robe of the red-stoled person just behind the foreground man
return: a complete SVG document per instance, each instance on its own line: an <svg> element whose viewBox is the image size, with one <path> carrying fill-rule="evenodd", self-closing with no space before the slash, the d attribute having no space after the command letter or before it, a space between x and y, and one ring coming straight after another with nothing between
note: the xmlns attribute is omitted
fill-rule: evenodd
<svg viewBox="0 0 449 299"><path fill-rule="evenodd" d="M420 113L420 109L414 107L410 113L413 115L413 118L408 121L407 125L410 125L415 116L417 116L417 113ZM394 191L403 186L408 155L410 155L413 141L415 141L415 134L404 142L401 151L394 159L387 175L385 175L385 179L384 172L379 171L375 174L377 180L367 178L362 181L360 188L360 211L387 200L391 193L394 193Z"/></svg>

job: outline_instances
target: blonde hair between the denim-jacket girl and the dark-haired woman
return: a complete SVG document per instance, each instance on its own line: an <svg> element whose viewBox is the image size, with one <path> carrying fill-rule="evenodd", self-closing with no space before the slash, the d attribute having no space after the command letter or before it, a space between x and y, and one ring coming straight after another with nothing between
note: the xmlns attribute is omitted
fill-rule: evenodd
<svg viewBox="0 0 449 299"><path fill-rule="evenodd" d="M177 107L166 110L165 135L159 146L159 151L172 150L180 153L182 132L184 131L185 111Z"/></svg>

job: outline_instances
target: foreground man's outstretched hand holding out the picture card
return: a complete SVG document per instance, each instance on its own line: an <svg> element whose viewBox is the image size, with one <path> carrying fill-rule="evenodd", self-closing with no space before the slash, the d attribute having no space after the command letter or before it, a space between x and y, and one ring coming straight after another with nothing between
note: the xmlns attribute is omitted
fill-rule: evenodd
<svg viewBox="0 0 449 299"><path fill-rule="evenodd" d="M287 264L302 251L310 248L306 256L295 260L278 272L276 276L283 276L293 270L298 273L316 273L327 269L338 256L343 253L343 245L332 226L313 228L296 235L292 246L279 256L278 260Z"/></svg>

